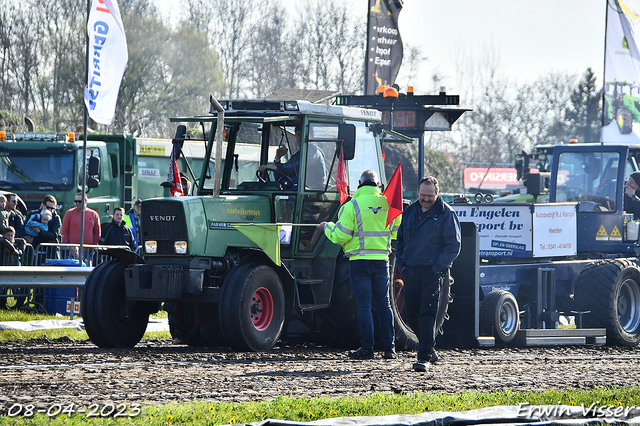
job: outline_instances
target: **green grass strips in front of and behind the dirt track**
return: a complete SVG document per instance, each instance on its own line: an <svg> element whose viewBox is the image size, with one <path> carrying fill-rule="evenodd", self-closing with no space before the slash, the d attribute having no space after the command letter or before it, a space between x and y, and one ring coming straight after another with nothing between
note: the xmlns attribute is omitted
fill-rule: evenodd
<svg viewBox="0 0 640 426"><path fill-rule="evenodd" d="M161 311L156 316L165 316ZM41 319L63 319L60 317L36 315L21 311L0 311L0 321L33 321ZM68 317L66 317L68 319ZM0 340L24 340L47 337L54 339L68 336L73 339L86 339L85 332L73 329L41 330L34 332L15 332L0 330ZM145 338L170 338L168 332L148 333ZM167 405L142 405L127 407L100 407L95 417L88 413L72 413L64 406L50 407L50 415L36 414L27 416L25 405L18 412L15 407L6 415L0 416L0 424L27 425L222 425L255 423L264 419L291 421L313 421L333 417L383 416L391 414L418 414L429 411L466 411L499 405L569 405L584 407L587 410L596 404L598 407L640 406L640 388L602 388L588 391L545 391L448 394L376 394L366 398L289 398L280 396L274 401L260 401L244 404L211 403L208 401L183 401ZM7 407L9 408L9 407ZM78 407L76 407L77 409ZM85 407L87 408L87 407ZM111 409L113 408L113 410ZM113 411L113 412L111 412ZM116 416L120 412L121 416Z"/></svg>

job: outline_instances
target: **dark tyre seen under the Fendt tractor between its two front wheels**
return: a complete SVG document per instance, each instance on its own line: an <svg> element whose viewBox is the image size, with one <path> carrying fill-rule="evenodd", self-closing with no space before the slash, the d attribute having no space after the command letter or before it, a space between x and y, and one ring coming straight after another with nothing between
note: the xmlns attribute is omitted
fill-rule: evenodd
<svg viewBox="0 0 640 426"><path fill-rule="evenodd" d="M220 346L224 339L213 303L165 303L171 337L189 346ZM179 343L176 342L176 343Z"/></svg>

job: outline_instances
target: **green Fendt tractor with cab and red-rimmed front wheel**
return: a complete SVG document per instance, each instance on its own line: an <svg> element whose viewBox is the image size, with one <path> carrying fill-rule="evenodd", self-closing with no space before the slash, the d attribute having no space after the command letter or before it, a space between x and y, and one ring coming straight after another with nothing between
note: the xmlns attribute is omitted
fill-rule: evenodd
<svg viewBox="0 0 640 426"><path fill-rule="evenodd" d="M295 319L331 343L357 347L348 260L317 224L337 219L341 149L351 193L367 169L386 184L381 113L295 100L220 104L224 114L212 99L210 115L172 119L211 125L200 141L211 161L193 196L142 201L143 258L112 250L114 260L89 275L82 307L90 339L133 346L164 302L172 336L192 345L269 350ZM175 143L184 142L184 129L178 126ZM282 162L293 176L257 171L273 164L278 147L287 147ZM391 297L399 317L401 288ZM396 321L398 349L415 345Z"/></svg>

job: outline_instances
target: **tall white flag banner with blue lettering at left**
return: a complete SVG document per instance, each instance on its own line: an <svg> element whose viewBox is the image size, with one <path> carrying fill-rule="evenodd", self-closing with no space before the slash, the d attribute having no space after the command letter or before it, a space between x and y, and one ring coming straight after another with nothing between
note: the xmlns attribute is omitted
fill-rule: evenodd
<svg viewBox="0 0 640 426"><path fill-rule="evenodd" d="M116 0L93 0L87 21L89 69L84 102L96 123L110 125L129 53Z"/></svg>

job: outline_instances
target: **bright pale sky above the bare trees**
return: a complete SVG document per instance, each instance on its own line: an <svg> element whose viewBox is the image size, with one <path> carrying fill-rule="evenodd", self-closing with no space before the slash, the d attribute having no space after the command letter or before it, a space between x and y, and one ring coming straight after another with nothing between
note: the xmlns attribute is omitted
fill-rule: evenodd
<svg viewBox="0 0 640 426"><path fill-rule="evenodd" d="M168 10L179 0L154 0ZM366 16L367 0L343 0ZM638 1L638 0L636 0ZM282 0L291 13L309 0ZM461 59L481 63L491 52L502 77L531 82L549 72L582 74L591 67L602 83L606 0L404 0L400 34L428 57L416 93L429 90L438 72L456 93ZM364 60L364 52L363 52ZM422 88L422 89L421 89Z"/></svg>

